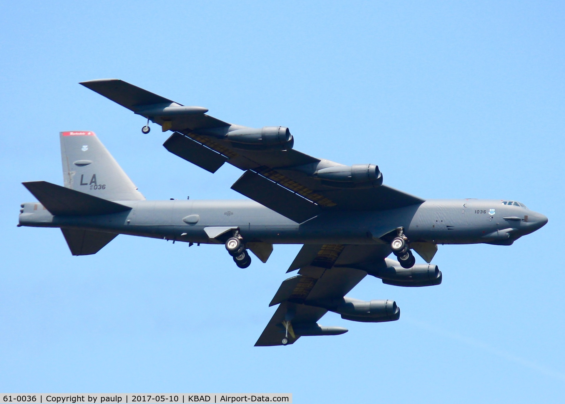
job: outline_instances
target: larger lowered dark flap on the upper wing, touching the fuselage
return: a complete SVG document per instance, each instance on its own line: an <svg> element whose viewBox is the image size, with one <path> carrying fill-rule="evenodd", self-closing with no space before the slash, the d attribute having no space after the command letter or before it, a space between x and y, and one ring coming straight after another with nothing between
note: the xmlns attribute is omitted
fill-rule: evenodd
<svg viewBox="0 0 565 404"><path fill-rule="evenodd" d="M321 212L321 208L314 202L251 170L247 170L232 185L232 189L297 223L311 219Z"/></svg>

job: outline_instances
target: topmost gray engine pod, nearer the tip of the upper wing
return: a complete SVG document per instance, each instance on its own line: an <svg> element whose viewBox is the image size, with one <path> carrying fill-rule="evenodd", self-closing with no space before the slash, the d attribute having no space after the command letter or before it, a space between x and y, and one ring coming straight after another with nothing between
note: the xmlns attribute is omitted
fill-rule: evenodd
<svg viewBox="0 0 565 404"><path fill-rule="evenodd" d="M284 126L236 129L228 132L225 138L233 142L233 147L238 149L288 150L294 146L294 138L289 129Z"/></svg>

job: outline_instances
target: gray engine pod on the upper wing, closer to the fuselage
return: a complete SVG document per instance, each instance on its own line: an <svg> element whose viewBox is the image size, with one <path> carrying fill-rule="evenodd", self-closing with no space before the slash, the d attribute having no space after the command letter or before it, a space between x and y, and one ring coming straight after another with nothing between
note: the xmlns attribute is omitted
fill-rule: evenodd
<svg viewBox="0 0 565 404"><path fill-rule="evenodd" d="M314 172L312 176L334 188L376 188L383 185L383 174L375 164L327 167Z"/></svg>

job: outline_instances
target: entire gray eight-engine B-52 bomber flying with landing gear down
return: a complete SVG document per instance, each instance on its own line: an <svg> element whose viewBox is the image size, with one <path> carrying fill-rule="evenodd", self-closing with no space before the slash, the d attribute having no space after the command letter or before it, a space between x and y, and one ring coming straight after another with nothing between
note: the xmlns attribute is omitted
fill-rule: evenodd
<svg viewBox="0 0 565 404"><path fill-rule="evenodd" d="M81 84L144 116L144 133L149 121L172 131L163 145L171 153L212 173L224 163L245 171L232 189L251 200L146 201L94 132L68 131L60 133L64 186L23 183L39 202L21 205L19 225L59 227L73 255L95 254L118 234L223 244L240 268L251 262L248 251L266 262L273 244L303 244L287 271L298 275L277 290L270 306L279 307L256 346L347 332L318 324L327 311L398 320L396 302L346 294L367 274L389 285L438 285L438 244L511 245L547 223L508 199L424 200L390 188L375 164L294 150L286 127L229 124L121 80Z"/></svg>

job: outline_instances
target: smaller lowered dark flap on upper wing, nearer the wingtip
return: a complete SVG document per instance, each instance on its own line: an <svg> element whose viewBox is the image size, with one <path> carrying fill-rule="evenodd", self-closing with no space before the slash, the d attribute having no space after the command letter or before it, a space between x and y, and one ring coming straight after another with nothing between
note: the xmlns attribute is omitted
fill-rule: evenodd
<svg viewBox="0 0 565 404"><path fill-rule="evenodd" d="M179 132L173 133L163 146L172 154L210 172L216 172L228 160L224 155Z"/></svg>

